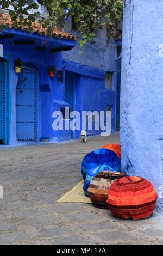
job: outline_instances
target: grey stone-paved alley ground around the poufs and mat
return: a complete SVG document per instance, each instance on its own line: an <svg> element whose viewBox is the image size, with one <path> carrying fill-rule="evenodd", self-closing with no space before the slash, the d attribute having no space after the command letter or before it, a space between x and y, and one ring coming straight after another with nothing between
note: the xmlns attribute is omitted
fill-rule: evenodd
<svg viewBox="0 0 163 256"><path fill-rule="evenodd" d="M163 219L120 220L91 204L56 203L82 180L85 154L118 134L87 143L29 145L0 150L1 245L163 245Z"/></svg>

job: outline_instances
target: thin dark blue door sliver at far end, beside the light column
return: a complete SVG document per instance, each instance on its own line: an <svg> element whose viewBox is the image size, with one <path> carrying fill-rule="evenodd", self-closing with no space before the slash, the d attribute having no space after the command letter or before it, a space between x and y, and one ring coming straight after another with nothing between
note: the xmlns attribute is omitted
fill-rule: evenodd
<svg viewBox="0 0 163 256"><path fill-rule="evenodd" d="M120 129L120 94L121 94L121 72L117 74L116 87L116 129Z"/></svg>

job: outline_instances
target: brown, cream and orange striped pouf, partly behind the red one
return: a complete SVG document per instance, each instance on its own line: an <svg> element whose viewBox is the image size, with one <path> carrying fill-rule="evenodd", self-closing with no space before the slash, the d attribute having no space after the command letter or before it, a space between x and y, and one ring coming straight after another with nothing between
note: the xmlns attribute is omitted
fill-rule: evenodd
<svg viewBox="0 0 163 256"><path fill-rule="evenodd" d="M120 172L100 172L91 180L90 186L87 190L93 205L99 208L108 208L106 200L108 199L108 191L111 184L126 174Z"/></svg>

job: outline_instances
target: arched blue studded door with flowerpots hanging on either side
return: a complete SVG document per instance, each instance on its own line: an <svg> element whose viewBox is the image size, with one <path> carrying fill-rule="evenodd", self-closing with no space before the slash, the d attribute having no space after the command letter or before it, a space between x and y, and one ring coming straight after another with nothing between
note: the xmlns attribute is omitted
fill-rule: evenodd
<svg viewBox="0 0 163 256"><path fill-rule="evenodd" d="M17 141L37 141L38 71L30 65L22 68L16 86Z"/></svg>

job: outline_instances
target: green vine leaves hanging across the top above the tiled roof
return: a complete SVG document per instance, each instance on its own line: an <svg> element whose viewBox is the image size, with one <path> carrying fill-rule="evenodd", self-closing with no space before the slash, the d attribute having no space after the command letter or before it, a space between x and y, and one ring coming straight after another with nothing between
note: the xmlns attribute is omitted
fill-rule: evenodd
<svg viewBox="0 0 163 256"><path fill-rule="evenodd" d="M34 22L37 21L40 27L47 28L47 33L51 36L53 28L64 28L66 19L71 19L73 15L74 20L79 23L79 33L82 35L81 47L87 41L93 43L98 27L103 29L103 26L108 27L108 23L116 26L117 21L122 20L123 0L37 0L38 4L28 2L29 4L26 4L26 0L18 0L18 2L0 0L2 8L8 9L9 5L14 8L9 12L14 28L18 25L27 26L32 33ZM37 11L39 4L46 8L44 17L41 17L40 12ZM101 23L102 15L106 18L106 22Z"/></svg>

